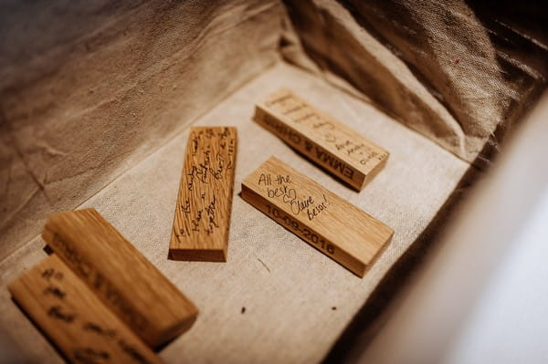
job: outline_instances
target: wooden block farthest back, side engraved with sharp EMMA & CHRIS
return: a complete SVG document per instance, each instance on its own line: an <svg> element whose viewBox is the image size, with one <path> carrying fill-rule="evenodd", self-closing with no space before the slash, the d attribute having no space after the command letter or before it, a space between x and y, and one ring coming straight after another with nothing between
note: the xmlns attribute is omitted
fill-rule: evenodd
<svg viewBox="0 0 548 364"><path fill-rule="evenodd" d="M388 151L286 88L259 102L253 119L357 191L361 191L388 160Z"/></svg>

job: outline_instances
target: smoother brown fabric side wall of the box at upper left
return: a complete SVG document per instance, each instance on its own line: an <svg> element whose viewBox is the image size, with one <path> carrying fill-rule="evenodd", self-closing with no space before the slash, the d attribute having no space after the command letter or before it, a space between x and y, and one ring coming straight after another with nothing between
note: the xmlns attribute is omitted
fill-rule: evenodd
<svg viewBox="0 0 548 364"><path fill-rule="evenodd" d="M0 4L0 259L277 59L278 1Z"/></svg>

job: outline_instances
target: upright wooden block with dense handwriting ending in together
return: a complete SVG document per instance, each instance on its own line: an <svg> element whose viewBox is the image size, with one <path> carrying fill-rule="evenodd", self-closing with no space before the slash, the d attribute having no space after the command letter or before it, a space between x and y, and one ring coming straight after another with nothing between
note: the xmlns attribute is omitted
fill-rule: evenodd
<svg viewBox="0 0 548 364"><path fill-rule="evenodd" d="M237 131L190 129L175 207L169 258L226 262Z"/></svg>

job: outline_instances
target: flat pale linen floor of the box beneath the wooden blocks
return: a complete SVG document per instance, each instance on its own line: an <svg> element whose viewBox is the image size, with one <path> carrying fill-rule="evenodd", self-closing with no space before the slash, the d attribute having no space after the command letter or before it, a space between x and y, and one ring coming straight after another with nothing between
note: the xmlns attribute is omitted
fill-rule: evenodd
<svg viewBox="0 0 548 364"><path fill-rule="evenodd" d="M279 86L293 88L390 151L385 170L364 191L353 192L251 121L254 101ZM321 360L469 168L467 162L373 106L282 63L238 89L196 124L237 126L227 263L167 260L187 130L80 206L95 207L200 307L195 326L162 350L168 363ZM363 279L237 196L242 180L271 155L395 229L393 242ZM54 349L10 301L5 289L9 281L46 256L42 247L36 238L0 264L0 322L30 355L42 363L58 363L61 360ZM242 307L246 307L244 314Z"/></svg>

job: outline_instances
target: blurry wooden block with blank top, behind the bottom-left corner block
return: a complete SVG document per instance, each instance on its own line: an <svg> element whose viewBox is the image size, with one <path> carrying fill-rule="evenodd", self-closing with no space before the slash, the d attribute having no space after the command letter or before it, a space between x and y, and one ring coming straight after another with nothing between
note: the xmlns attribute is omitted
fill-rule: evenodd
<svg viewBox="0 0 548 364"><path fill-rule="evenodd" d="M195 305L95 209L50 216L42 237L150 347L194 324Z"/></svg>

